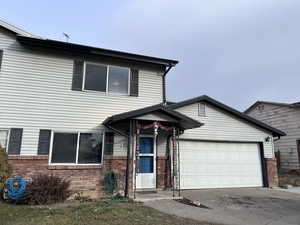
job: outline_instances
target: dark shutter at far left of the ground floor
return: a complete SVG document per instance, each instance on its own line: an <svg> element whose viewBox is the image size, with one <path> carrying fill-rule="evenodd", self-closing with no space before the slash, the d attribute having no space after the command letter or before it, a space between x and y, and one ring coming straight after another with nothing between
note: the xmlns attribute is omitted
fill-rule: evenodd
<svg viewBox="0 0 300 225"><path fill-rule="evenodd" d="M8 154L9 155L20 155L22 145L22 128L11 128L8 143Z"/></svg>

